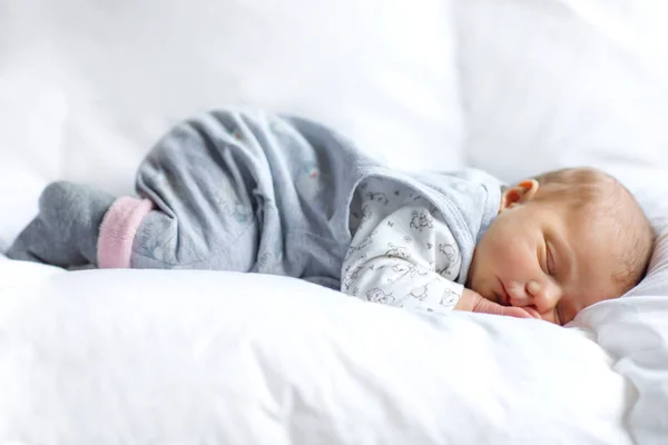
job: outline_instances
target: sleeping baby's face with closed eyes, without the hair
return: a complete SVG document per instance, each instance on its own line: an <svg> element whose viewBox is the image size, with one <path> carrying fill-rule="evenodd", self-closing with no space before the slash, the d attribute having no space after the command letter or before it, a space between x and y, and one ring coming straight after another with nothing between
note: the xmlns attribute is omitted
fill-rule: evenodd
<svg viewBox="0 0 668 445"><path fill-rule="evenodd" d="M584 211L530 195L504 194L499 216L475 248L466 287L558 325L620 296L611 278L613 240L606 230L591 230Z"/></svg>

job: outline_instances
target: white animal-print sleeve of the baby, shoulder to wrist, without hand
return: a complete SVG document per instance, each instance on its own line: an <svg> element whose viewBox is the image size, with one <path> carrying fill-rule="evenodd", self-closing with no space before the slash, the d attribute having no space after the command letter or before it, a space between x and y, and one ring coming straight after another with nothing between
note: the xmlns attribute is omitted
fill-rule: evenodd
<svg viewBox="0 0 668 445"><path fill-rule="evenodd" d="M451 312L464 289L454 281L462 258L441 212L407 187L382 178L365 180L358 194L341 290L412 310Z"/></svg>

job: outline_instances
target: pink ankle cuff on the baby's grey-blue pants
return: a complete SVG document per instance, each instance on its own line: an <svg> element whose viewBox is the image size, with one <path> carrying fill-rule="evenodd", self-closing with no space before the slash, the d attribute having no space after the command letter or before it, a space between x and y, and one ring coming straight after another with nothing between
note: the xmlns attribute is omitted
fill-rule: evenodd
<svg viewBox="0 0 668 445"><path fill-rule="evenodd" d="M118 198L102 218L98 238L98 267L130 268L132 243L144 217L153 210L148 199Z"/></svg>

